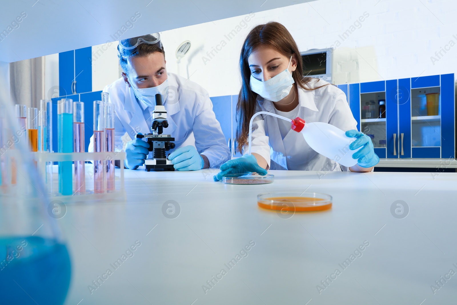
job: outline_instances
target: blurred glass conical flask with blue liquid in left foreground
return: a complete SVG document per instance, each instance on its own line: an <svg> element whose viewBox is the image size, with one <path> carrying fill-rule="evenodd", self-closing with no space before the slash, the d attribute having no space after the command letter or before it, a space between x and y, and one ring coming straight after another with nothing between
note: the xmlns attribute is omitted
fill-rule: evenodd
<svg viewBox="0 0 457 305"><path fill-rule="evenodd" d="M48 200L12 106L9 70L0 63L0 303L63 304L71 265L56 219L65 206Z"/></svg>

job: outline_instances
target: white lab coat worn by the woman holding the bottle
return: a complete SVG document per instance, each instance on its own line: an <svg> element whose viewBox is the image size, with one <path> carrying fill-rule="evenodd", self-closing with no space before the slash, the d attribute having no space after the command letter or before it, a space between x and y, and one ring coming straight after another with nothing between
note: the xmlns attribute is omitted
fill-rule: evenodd
<svg viewBox="0 0 457 305"><path fill-rule="evenodd" d="M317 79L308 83L309 87L328 84ZM357 122L352 116L346 95L338 87L327 85L320 89L308 91L298 86L298 116L306 123L324 122L332 124L343 131L357 129ZM276 113L273 102L257 96L256 111ZM318 154L306 143L303 135L290 130L282 139L278 120L270 115L258 115L253 123L251 152L261 155L271 170L295 171L348 171L345 166ZM248 145L244 146L247 154Z"/></svg>

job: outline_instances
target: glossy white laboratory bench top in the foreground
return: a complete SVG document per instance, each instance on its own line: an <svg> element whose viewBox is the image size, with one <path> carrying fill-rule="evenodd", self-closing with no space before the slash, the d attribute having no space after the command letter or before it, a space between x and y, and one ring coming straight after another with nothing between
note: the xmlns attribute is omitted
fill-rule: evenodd
<svg viewBox="0 0 457 305"><path fill-rule="evenodd" d="M269 171L271 184L228 185L216 172L126 170L127 202L68 204L57 220L72 262L65 304L455 303L457 274L435 281L457 272L457 174ZM260 193L305 190L333 196L332 209L284 219L257 206ZM181 208L174 219L168 200ZM391 214L397 200L403 219Z"/></svg>

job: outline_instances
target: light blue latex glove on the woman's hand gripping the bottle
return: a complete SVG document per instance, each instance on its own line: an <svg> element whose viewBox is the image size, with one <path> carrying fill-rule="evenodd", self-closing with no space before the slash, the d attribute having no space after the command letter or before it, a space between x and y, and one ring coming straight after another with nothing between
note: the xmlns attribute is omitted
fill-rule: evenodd
<svg viewBox="0 0 457 305"><path fill-rule="evenodd" d="M357 148L363 146L352 155L353 159L358 159L358 166L372 167L377 165L379 157L374 153L373 142L369 136L354 129L346 131L346 136L350 138L357 138L351 143L351 145L349 145L349 149L356 150Z"/></svg>

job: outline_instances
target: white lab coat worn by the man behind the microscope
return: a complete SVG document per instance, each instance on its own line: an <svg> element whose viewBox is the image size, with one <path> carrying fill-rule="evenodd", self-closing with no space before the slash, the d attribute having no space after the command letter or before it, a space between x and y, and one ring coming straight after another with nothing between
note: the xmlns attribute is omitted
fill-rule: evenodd
<svg viewBox="0 0 457 305"><path fill-rule="evenodd" d="M218 168L230 159L221 126L213 112L213 103L208 93L196 83L168 73L169 94L165 98L168 127L163 134L171 134L175 138L175 149L186 145L194 145L201 155L208 158L210 167ZM122 150L121 137L127 132L131 139L138 133L151 133L151 126L146 123L150 110L140 106L140 102L121 77L106 86L109 100L114 104L115 147ZM141 103L143 104L143 103ZM154 109L153 107L148 107ZM193 138L195 140L193 140ZM175 149L167 151L167 154ZM90 138L89 151L94 151L93 136ZM152 152L148 157L152 157Z"/></svg>

